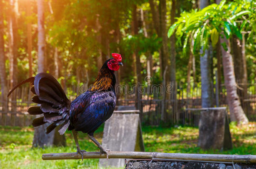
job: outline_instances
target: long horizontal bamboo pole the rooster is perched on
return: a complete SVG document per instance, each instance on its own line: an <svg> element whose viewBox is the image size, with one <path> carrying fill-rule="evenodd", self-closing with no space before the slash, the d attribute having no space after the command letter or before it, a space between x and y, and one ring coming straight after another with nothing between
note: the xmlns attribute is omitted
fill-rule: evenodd
<svg viewBox="0 0 256 169"><path fill-rule="evenodd" d="M256 163L256 155L226 155L226 154L182 154L182 153L157 153L157 152L138 152L138 151L110 151L110 159L174 159L191 161L219 161L234 163ZM84 152L84 159L104 159L107 154L99 152ZM58 159L81 159L80 154L76 153L52 153L43 154L43 160Z"/></svg>

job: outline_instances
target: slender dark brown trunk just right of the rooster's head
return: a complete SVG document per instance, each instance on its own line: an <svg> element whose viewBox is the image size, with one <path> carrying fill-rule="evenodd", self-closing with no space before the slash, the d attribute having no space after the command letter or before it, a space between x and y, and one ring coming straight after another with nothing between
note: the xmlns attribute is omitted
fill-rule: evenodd
<svg viewBox="0 0 256 169"><path fill-rule="evenodd" d="M138 19L137 19L137 7L136 5L133 5L133 11L132 11L132 34L137 35L138 34ZM141 110L141 92L140 92L140 84L141 84L141 61L140 56L138 55L138 50L135 49L135 52L133 52L133 57L135 58L135 65L136 65L136 100L137 105L136 108L140 111Z"/></svg>

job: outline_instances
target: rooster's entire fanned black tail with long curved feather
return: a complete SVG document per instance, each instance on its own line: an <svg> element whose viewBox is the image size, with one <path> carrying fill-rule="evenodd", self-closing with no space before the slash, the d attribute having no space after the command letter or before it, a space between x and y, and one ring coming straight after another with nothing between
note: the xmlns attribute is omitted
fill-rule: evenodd
<svg viewBox="0 0 256 169"><path fill-rule="evenodd" d="M18 86L28 82L34 85L30 91L36 94L32 101L41 104L41 106L30 107L28 112L29 114L44 114L44 116L34 119L32 125L36 127L45 123L52 123L47 127L47 134L61 125L59 133L64 134L70 124L69 108L71 101L68 100L60 83L48 73L39 73L37 76L28 78L16 85L8 96Z"/></svg>

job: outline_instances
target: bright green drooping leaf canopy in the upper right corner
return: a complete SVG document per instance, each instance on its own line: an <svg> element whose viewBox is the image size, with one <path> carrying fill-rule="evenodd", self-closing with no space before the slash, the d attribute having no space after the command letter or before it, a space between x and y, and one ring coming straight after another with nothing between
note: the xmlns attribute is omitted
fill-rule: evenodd
<svg viewBox="0 0 256 169"><path fill-rule="evenodd" d="M183 36L185 36L183 48L187 48L188 39L193 37L194 44L192 45L193 48L191 47L193 53L196 52L196 49L200 49L201 46L207 48L209 38L212 40L212 45L216 45L221 33L224 33L226 38L236 35L242 39L241 30L249 24L238 22L238 20L252 21L253 16L255 16L255 8L256 4L248 0L236 0L230 3L226 3L223 0L219 5L212 4L203 10L184 12L170 27L168 37L176 30L175 34L179 43L181 43Z"/></svg>

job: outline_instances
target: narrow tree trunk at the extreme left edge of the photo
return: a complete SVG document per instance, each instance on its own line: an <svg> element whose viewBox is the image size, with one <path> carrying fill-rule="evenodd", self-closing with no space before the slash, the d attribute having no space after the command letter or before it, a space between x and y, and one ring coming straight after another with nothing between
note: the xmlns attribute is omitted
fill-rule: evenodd
<svg viewBox="0 0 256 169"><path fill-rule="evenodd" d="M3 2L0 0L0 9L3 9ZM4 24L3 24L3 10L0 10L0 81L1 81L1 102L2 111L7 110L7 82L5 72L5 50L4 50Z"/></svg>

